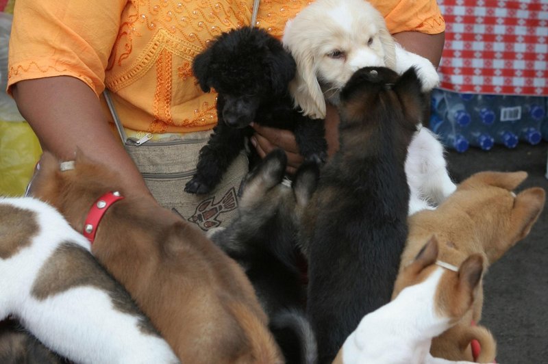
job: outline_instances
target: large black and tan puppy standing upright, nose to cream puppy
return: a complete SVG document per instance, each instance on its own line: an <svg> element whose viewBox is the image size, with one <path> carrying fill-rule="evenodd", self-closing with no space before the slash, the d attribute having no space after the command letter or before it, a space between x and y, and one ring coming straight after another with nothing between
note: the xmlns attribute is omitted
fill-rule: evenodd
<svg viewBox="0 0 548 364"><path fill-rule="evenodd" d="M423 115L413 68L401 77L362 68L340 99L340 148L302 219L320 363L331 363L362 317L390 301L408 233L403 165Z"/></svg>

